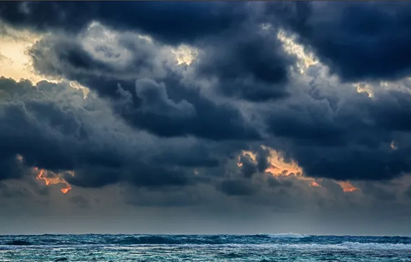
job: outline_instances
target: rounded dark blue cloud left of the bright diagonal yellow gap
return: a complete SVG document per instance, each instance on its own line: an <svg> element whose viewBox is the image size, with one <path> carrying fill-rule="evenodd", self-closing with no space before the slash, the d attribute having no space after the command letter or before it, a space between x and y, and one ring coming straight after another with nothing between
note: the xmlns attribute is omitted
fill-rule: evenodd
<svg viewBox="0 0 411 262"><path fill-rule="evenodd" d="M288 97L288 67L294 62L285 54L277 30L245 23L221 38L206 42L194 61L198 77L212 79L219 94L248 101Z"/></svg>

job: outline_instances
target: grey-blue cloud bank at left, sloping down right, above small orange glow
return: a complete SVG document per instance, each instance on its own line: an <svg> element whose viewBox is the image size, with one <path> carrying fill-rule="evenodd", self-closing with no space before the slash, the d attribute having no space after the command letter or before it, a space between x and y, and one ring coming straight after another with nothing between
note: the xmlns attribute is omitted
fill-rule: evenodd
<svg viewBox="0 0 411 262"><path fill-rule="evenodd" d="M185 159L181 163L180 152L168 159L170 154L167 149L161 151L161 144L151 154L149 148L139 148L143 144L133 143L136 137L126 126L111 122L113 116L103 107L103 101L92 96L83 99L81 90L63 83L41 81L33 86L30 81L1 78L0 90L0 165L7 171L1 172L0 179L27 174L19 165L17 154L23 156L27 167L54 172L74 170L74 177L64 177L82 187L119 181L147 187L186 185L193 181L186 177L184 166L210 165L210 160L199 161L194 156L192 161ZM104 115L100 120L99 111ZM182 154L189 154L184 148L199 152L194 144L180 148ZM202 155L211 159L207 152Z"/></svg>

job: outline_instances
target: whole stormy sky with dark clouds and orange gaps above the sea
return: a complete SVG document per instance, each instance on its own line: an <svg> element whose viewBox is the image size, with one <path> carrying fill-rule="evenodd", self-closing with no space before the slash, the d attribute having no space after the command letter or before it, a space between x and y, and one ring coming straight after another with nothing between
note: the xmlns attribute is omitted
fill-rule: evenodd
<svg viewBox="0 0 411 262"><path fill-rule="evenodd" d="M0 2L0 234L411 235L410 12Z"/></svg>

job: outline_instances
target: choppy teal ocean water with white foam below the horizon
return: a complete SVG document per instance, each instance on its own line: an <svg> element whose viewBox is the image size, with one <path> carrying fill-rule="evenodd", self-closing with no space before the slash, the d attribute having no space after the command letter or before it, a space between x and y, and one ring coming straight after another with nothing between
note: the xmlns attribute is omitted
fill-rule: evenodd
<svg viewBox="0 0 411 262"><path fill-rule="evenodd" d="M411 261L411 237L301 234L0 236L0 261Z"/></svg>

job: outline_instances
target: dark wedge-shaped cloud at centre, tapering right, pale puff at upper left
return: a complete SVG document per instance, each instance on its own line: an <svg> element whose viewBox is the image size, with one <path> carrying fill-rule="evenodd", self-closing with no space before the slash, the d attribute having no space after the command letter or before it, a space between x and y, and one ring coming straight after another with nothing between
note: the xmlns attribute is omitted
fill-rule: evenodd
<svg viewBox="0 0 411 262"><path fill-rule="evenodd" d="M176 84L178 85L178 83ZM146 85L143 92L139 92L141 85ZM174 85L175 87L176 85ZM163 99L157 97L156 103L159 103L157 106L161 108L171 105L175 110L156 110L156 105L148 102L149 99L153 98L148 97L148 94L154 96L161 94L156 91L158 88L163 90L161 91ZM157 83L150 79L137 80L137 97L141 99L141 105L134 103L132 95L129 93L130 99L126 103L128 108L121 110L120 114L128 123L161 137L194 135L213 140L257 140L260 138L259 132L250 123L247 123L241 113L231 105L217 105L202 97L199 90L181 90L183 94L187 94L186 100L175 103L170 98L165 97L165 88L164 83ZM150 108L145 109L145 104Z"/></svg>

